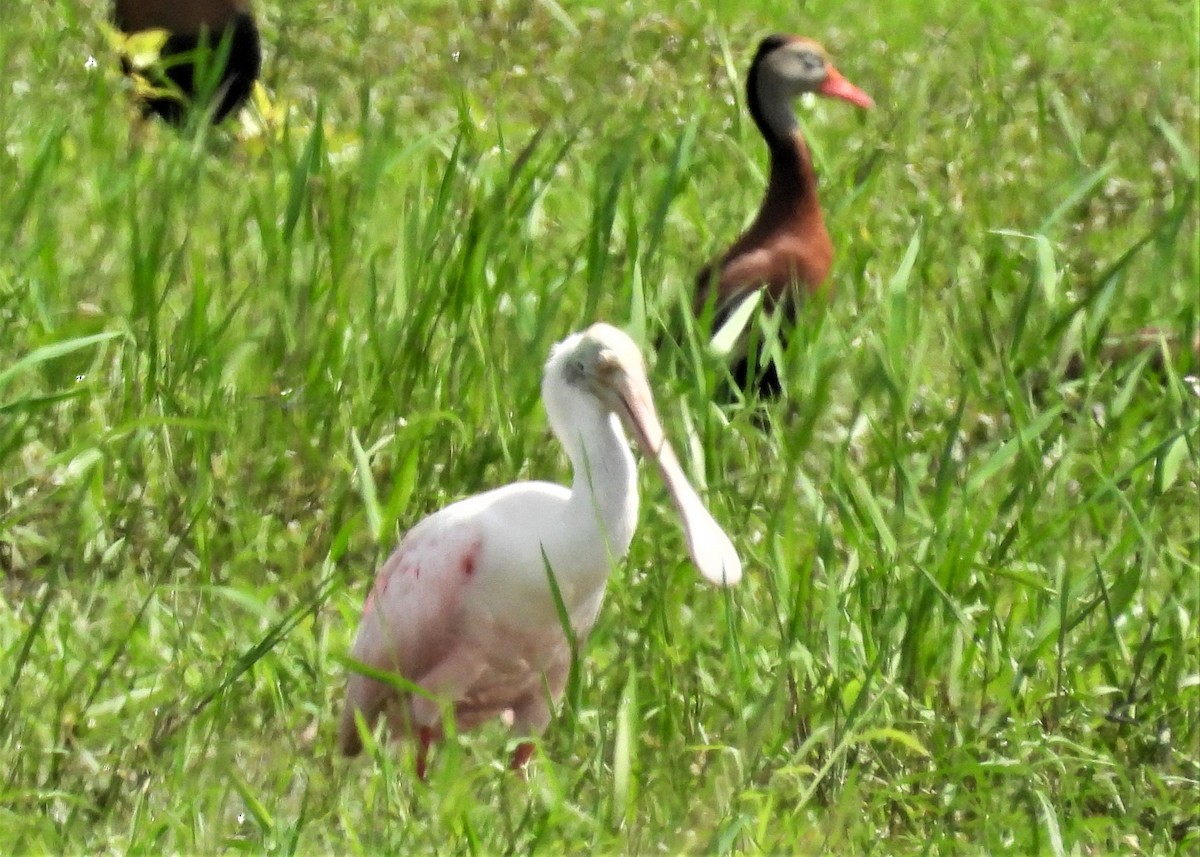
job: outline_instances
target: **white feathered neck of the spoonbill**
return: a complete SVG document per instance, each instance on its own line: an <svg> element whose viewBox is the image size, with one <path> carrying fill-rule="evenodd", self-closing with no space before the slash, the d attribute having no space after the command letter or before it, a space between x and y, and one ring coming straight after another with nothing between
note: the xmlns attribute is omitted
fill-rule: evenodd
<svg viewBox="0 0 1200 857"><path fill-rule="evenodd" d="M616 414L590 398L574 404L558 432L574 468L566 514L581 528L594 525L619 559L637 526L637 465Z"/></svg>

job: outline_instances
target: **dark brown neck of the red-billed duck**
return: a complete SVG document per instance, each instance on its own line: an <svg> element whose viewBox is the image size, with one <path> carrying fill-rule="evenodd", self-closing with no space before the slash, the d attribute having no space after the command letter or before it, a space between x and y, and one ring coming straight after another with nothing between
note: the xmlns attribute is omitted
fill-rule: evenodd
<svg viewBox="0 0 1200 857"><path fill-rule="evenodd" d="M767 142L770 174L760 217L822 221L812 154L800 133L791 100L761 91L757 79L748 85L750 115Z"/></svg>

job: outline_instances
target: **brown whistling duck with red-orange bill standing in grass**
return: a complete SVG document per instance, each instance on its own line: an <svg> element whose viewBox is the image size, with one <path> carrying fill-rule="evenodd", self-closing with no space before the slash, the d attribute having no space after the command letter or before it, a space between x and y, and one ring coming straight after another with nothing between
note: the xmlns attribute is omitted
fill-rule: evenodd
<svg viewBox="0 0 1200 857"><path fill-rule="evenodd" d="M757 289L768 307L793 314L804 294L816 292L829 276L833 242L821 216L812 155L800 133L792 102L804 92L871 107L870 96L844 78L824 48L798 36L768 36L758 46L746 77L746 104L770 154L767 193L750 228L696 278L694 308L714 304L714 329ZM715 294L714 294L715 292ZM731 367L742 389L757 384L763 395L780 392L774 365L758 374L752 354ZM757 377L756 377L757 376Z"/></svg>

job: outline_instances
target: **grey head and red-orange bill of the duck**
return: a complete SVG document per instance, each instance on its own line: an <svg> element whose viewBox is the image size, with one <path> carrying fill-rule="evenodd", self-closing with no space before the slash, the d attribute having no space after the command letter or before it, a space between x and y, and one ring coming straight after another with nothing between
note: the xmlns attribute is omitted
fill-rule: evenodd
<svg viewBox="0 0 1200 857"><path fill-rule="evenodd" d="M750 73L758 89L756 95L763 101L792 100L804 92L816 92L862 108L875 103L833 67L826 49L811 38L767 36L758 44Z"/></svg>

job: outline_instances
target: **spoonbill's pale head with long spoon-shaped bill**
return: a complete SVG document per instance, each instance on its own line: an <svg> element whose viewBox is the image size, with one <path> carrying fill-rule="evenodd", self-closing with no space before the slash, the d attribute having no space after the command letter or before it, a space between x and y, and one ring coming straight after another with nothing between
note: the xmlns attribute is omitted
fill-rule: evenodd
<svg viewBox="0 0 1200 857"><path fill-rule="evenodd" d="M742 561L691 487L667 442L650 395L642 352L611 324L593 324L568 336L554 346L546 362L542 397L554 432L564 442L578 430L570 422L586 419L565 400L581 396L599 403L601 412L619 416L642 453L658 465L700 573L721 586L737 583L742 579Z"/></svg>

